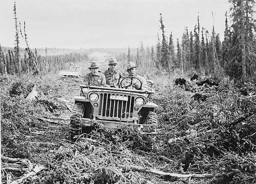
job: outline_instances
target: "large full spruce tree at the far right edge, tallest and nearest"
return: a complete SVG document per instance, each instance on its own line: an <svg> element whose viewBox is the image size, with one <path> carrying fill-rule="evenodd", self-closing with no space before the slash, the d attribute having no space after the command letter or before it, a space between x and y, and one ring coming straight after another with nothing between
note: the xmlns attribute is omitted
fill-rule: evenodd
<svg viewBox="0 0 256 184"><path fill-rule="evenodd" d="M232 25L228 73L239 82L246 82L256 71L255 0L229 0Z"/></svg>

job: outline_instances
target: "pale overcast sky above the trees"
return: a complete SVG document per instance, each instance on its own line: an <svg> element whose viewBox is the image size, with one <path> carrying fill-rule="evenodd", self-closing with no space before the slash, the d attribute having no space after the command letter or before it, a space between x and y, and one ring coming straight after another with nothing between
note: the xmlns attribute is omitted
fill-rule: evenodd
<svg viewBox="0 0 256 184"><path fill-rule="evenodd" d="M13 0L1 0L0 44L14 46ZM160 13L166 36L176 43L184 28L200 27L223 39L228 0L16 0L17 18L26 21L31 47L135 48L156 45ZM24 41L21 40L23 43ZM23 45L22 45L23 46Z"/></svg>

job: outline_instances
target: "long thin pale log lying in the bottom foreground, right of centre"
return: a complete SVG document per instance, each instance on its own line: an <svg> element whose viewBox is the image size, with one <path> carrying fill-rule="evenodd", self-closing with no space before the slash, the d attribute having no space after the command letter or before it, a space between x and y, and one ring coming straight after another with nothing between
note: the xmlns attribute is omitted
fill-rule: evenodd
<svg viewBox="0 0 256 184"><path fill-rule="evenodd" d="M176 177L176 178L207 178L207 177L221 177L222 174L177 174L177 173L169 173L169 172L163 172L156 169L151 168L144 168L140 166L122 166L120 167L125 169L130 169L132 171L138 171L138 172L147 172L147 173L153 173L160 176L169 176L169 177Z"/></svg>

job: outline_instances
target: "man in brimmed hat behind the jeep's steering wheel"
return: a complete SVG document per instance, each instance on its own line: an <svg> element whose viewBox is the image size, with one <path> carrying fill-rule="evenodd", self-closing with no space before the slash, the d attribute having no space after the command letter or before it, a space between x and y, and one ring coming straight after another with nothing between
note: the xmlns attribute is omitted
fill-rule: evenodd
<svg viewBox="0 0 256 184"><path fill-rule="evenodd" d="M129 83L131 82L132 86L129 86L128 89L137 89L137 90L147 90L147 84L146 84L146 80L143 76L138 75L137 72L137 67L138 65L136 65L134 62L129 62L127 64L127 72L129 73L129 76L135 76L137 77L140 82L138 80L136 80L136 78L130 78Z"/></svg>

